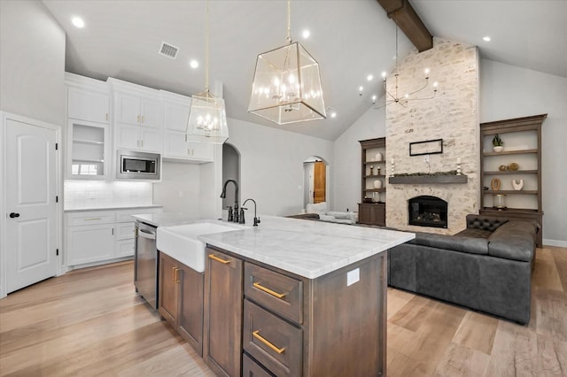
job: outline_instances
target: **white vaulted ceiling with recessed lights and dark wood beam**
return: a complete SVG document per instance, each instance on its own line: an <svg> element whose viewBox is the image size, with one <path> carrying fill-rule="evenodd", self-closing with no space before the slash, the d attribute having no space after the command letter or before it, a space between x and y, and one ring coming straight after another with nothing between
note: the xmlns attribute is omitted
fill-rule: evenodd
<svg viewBox="0 0 567 377"><path fill-rule="evenodd" d="M202 0L43 0L66 30L66 70L115 77L190 96L205 88ZM567 77L567 1L411 0L434 37L478 45L482 58ZM335 140L380 96L380 73L394 65L395 25L377 0L293 0L291 36L320 64L326 107L338 116L276 126L247 112L260 52L285 44L281 0L210 1L210 76L223 83L229 118ZM86 26L73 26L73 16ZM304 29L310 36L304 38ZM483 37L490 35L491 42ZM161 42L180 48L158 54ZM400 34L400 57L414 47ZM189 66L191 59L200 63ZM369 74L374 76L367 81ZM359 96L359 87L364 95Z"/></svg>

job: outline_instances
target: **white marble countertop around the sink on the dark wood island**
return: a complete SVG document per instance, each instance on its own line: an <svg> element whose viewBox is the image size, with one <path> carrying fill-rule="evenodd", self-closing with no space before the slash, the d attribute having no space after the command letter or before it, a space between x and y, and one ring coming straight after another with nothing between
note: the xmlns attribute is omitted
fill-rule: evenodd
<svg viewBox="0 0 567 377"><path fill-rule="evenodd" d="M416 237L413 233L375 227L274 216L260 216L260 219L259 227L199 235L198 239L242 257L315 279Z"/></svg>

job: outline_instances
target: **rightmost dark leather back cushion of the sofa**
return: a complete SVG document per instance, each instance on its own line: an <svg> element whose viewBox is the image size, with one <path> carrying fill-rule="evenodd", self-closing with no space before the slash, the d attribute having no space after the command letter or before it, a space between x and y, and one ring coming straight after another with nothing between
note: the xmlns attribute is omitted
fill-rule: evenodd
<svg viewBox="0 0 567 377"><path fill-rule="evenodd" d="M488 237L488 255L530 262L537 230L538 225L532 221L509 221Z"/></svg>

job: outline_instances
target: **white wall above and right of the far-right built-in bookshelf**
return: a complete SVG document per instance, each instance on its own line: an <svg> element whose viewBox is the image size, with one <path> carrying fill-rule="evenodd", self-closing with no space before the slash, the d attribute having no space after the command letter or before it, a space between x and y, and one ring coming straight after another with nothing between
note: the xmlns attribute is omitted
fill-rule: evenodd
<svg viewBox="0 0 567 377"><path fill-rule="evenodd" d="M567 247L567 78L480 62L481 122L548 114L542 127L543 243Z"/></svg>

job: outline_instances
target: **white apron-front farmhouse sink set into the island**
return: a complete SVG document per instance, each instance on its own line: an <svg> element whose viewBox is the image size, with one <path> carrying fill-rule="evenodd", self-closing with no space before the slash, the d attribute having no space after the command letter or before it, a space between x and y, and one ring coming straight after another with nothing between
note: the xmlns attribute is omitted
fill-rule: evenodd
<svg viewBox="0 0 567 377"><path fill-rule="evenodd" d="M187 265L198 273L205 271L205 242L198 240L199 235L229 232L244 227L229 227L213 222L198 222L177 225L175 227L158 227L157 247L169 257Z"/></svg>

